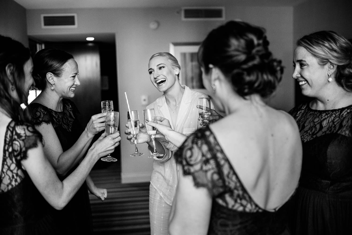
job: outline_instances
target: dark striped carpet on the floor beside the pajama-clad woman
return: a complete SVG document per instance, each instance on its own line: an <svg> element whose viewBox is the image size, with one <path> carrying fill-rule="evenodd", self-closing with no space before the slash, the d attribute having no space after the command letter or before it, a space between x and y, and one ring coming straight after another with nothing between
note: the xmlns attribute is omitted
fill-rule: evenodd
<svg viewBox="0 0 352 235"><path fill-rule="evenodd" d="M119 163L90 173L95 185L108 191L103 202L89 195L94 234L150 235L149 182L121 184Z"/></svg>

